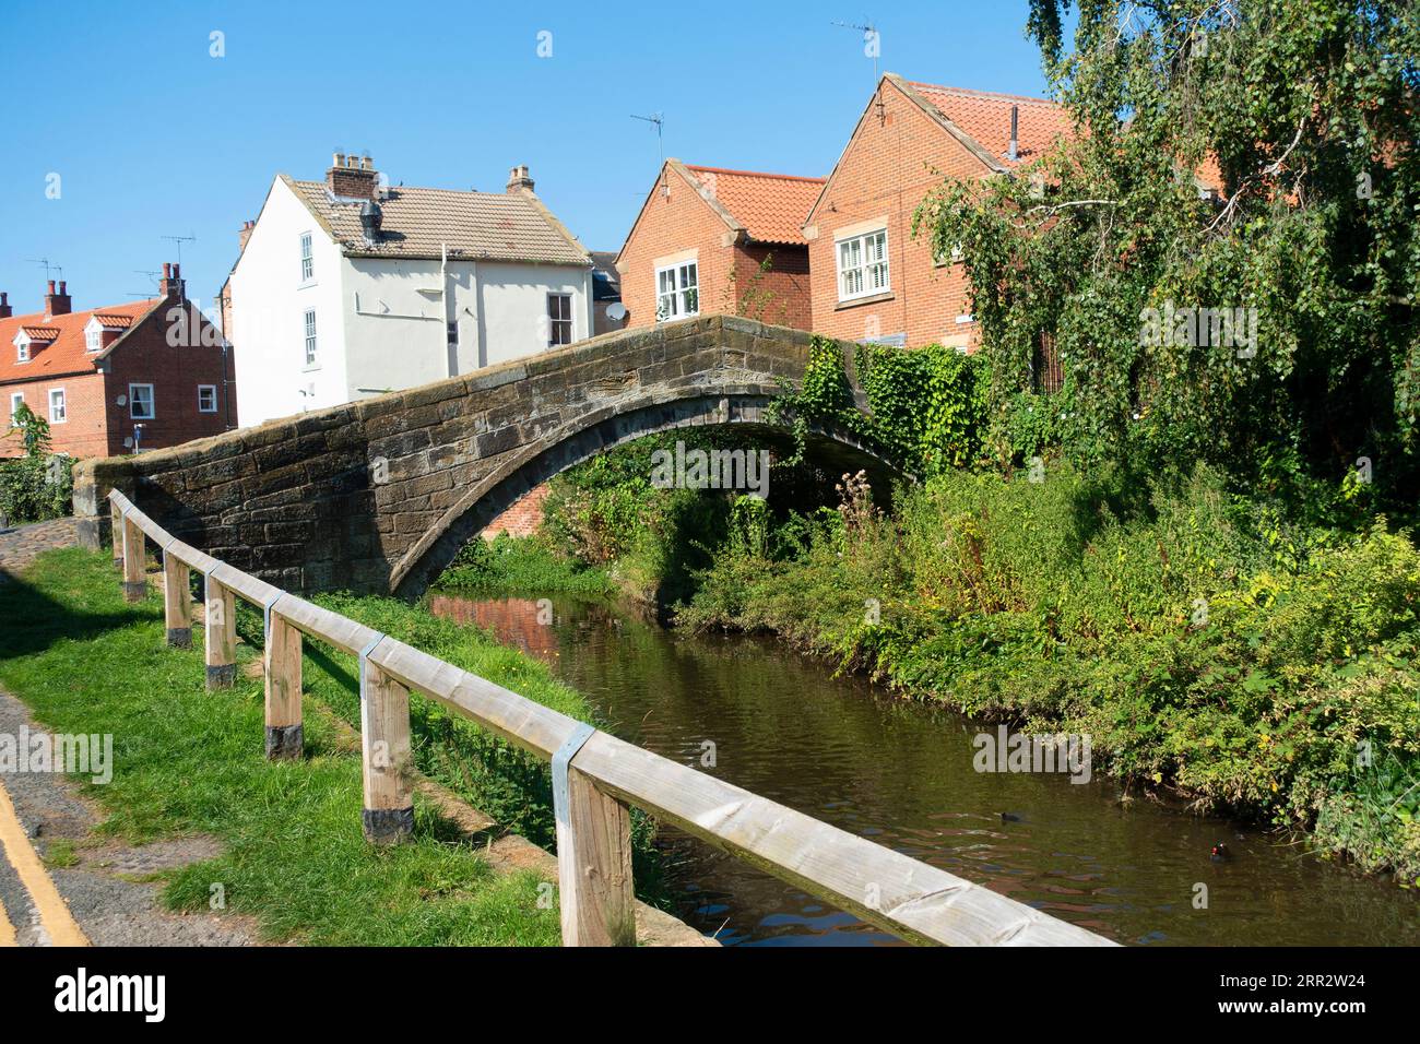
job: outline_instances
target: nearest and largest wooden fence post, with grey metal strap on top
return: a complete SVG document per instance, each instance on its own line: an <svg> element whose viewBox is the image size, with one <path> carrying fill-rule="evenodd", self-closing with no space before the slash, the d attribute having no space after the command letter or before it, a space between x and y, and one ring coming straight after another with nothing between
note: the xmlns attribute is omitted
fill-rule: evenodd
<svg viewBox="0 0 1420 1044"><path fill-rule="evenodd" d="M594 733L581 726L552 757L562 946L635 946L630 808L571 764Z"/></svg>

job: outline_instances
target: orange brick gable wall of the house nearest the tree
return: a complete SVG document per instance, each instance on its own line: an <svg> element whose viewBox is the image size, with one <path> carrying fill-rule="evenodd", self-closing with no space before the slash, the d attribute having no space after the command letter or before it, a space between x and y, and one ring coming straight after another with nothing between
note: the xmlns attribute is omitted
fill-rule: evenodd
<svg viewBox="0 0 1420 1044"><path fill-rule="evenodd" d="M971 311L960 264L937 266L926 232L912 237L912 214L944 175L981 178L985 165L892 82L879 87L883 102L869 105L809 224L814 331L849 341L906 334L910 347L970 338L976 324L958 324ZM841 305L834 233L886 217L890 291L885 300ZM809 229L814 232L814 229Z"/></svg>

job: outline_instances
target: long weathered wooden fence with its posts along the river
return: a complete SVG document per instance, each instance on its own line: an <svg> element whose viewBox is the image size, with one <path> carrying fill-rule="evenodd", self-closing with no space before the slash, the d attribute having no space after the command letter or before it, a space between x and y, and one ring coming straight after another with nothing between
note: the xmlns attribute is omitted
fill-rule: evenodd
<svg viewBox="0 0 1420 1044"><path fill-rule="evenodd" d="M747 790L670 761L287 594L203 554L109 493L124 592L143 597L143 540L163 553L170 645L192 635L189 571L206 578L207 686L236 672L236 599L266 619L266 751L301 756L301 642L358 658L364 825L375 844L413 830L409 693L417 692L552 764L565 946L635 942L630 807L852 912L895 936L951 946L1112 946L987 888L919 862Z"/></svg>

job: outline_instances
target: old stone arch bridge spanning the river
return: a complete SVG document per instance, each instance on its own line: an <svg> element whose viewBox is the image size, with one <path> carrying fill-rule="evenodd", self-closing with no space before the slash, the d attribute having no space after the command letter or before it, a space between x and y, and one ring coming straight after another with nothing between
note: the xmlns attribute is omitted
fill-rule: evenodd
<svg viewBox="0 0 1420 1044"><path fill-rule="evenodd" d="M709 315L581 344L138 456L75 466L75 514L98 544L108 490L216 558L288 591L419 594L459 548L552 474L677 428L753 425L798 384L809 335ZM851 345L845 368L862 403ZM845 432L811 452L890 469Z"/></svg>

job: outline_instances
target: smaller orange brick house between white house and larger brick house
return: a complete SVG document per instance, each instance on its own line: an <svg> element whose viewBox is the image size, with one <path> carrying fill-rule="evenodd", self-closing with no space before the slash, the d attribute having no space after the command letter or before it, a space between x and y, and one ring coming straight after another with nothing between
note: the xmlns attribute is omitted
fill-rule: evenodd
<svg viewBox="0 0 1420 1044"><path fill-rule="evenodd" d="M621 253L628 327L706 312L808 330L804 216L822 178L667 159Z"/></svg>

